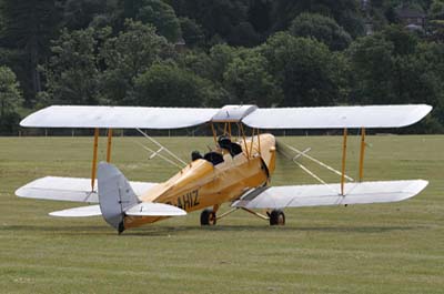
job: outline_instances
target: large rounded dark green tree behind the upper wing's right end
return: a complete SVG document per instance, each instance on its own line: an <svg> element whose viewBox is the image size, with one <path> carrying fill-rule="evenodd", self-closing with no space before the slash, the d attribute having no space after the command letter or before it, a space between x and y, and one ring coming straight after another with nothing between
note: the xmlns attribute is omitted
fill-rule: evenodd
<svg viewBox="0 0 444 294"><path fill-rule="evenodd" d="M417 63L417 44L414 34L396 26L357 39L347 51L354 72L352 100L374 104L420 102L428 87L421 77L424 70Z"/></svg>

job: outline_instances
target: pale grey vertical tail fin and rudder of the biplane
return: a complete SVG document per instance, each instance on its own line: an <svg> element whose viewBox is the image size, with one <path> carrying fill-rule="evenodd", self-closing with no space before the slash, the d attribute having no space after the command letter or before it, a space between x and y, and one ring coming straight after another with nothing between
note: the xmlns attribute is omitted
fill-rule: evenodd
<svg viewBox="0 0 444 294"><path fill-rule="evenodd" d="M112 164L99 163L99 204L103 219L112 227L124 231L124 212L140 201L124 175Z"/></svg>

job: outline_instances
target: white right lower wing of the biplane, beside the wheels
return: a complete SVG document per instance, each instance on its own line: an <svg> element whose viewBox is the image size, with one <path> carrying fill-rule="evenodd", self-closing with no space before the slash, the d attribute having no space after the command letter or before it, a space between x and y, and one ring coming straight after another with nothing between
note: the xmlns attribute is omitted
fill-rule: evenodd
<svg viewBox="0 0 444 294"><path fill-rule="evenodd" d="M346 183L345 195L340 194L341 184L272 186L256 189L232 206L283 209L396 202L413 197L427 184L424 180Z"/></svg>

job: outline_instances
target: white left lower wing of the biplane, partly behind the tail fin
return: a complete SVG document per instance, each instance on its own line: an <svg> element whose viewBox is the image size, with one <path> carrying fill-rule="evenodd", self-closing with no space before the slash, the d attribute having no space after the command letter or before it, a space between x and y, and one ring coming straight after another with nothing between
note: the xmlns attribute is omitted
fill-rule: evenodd
<svg viewBox="0 0 444 294"><path fill-rule="evenodd" d="M155 183L130 182L137 195ZM98 186L97 183L94 185ZM97 191L91 192L91 179L46 176L37 179L16 191L19 197L99 203Z"/></svg>

